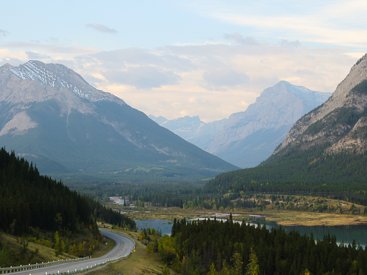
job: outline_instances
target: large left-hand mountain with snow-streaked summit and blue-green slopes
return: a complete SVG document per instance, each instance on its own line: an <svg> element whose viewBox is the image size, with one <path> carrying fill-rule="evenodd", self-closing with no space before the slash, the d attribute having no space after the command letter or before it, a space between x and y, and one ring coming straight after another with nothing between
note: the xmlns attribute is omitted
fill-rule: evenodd
<svg viewBox="0 0 367 275"><path fill-rule="evenodd" d="M60 64L0 67L0 144L42 173L212 176L235 166Z"/></svg>

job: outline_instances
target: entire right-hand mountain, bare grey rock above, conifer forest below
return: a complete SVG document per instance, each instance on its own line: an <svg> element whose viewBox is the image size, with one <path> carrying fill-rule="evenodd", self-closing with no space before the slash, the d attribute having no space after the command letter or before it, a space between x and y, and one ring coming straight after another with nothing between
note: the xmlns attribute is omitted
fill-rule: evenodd
<svg viewBox="0 0 367 275"><path fill-rule="evenodd" d="M273 154L255 168L224 173L207 192L341 191L366 194L367 54L333 95L303 115Z"/></svg>

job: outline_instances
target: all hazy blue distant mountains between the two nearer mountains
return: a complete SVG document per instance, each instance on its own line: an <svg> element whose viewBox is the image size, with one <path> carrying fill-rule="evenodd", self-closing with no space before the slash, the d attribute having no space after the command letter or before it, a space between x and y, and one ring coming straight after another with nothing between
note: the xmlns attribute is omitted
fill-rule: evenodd
<svg viewBox="0 0 367 275"><path fill-rule="evenodd" d="M197 116L170 121L164 117L149 117L209 153L247 168L268 158L292 125L330 96L331 93L280 81L265 89L246 111L234 113L228 120L206 124Z"/></svg>

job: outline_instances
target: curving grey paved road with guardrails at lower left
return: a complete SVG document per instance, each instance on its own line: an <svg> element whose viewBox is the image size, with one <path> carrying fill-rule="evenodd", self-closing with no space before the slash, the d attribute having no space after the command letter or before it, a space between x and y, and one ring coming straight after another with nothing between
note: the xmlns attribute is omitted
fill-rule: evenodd
<svg viewBox="0 0 367 275"><path fill-rule="evenodd" d="M120 256L127 256L128 254L130 254L132 250L134 250L135 244L131 239L126 238L122 235L110 232L110 231L106 231L106 230L101 230L101 233L104 236L110 239L113 239L116 242L115 247L113 247L112 250L110 250L107 254L105 254L102 257L90 259L90 260L79 261L76 263L63 263L63 264L58 264L58 265L51 265L50 267L30 269L30 270L19 271L19 272L12 272L10 274L45 275L46 272L47 274L57 274L58 271L60 273L68 272L68 270L71 272L71 271L75 271L75 269L80 270L81 268L85 269L87 267L91 267L94 264L99 264L99 263L102 263L112 258L117 258Z"/></svg>

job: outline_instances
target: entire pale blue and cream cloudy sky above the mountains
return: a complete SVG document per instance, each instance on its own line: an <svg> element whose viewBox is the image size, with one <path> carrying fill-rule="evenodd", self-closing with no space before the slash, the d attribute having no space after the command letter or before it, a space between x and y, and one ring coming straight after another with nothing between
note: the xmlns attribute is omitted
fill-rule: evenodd
<svg viewBox="0 0 367 275"><path fill-rule="evenodd" d="M61 63L145 114L204 122L280 80L333 92L367 52L367 1L0 0L0 66Z"/></svg>

